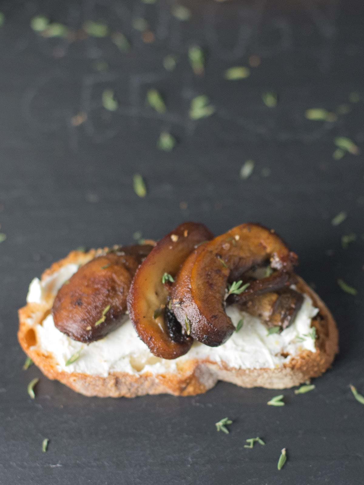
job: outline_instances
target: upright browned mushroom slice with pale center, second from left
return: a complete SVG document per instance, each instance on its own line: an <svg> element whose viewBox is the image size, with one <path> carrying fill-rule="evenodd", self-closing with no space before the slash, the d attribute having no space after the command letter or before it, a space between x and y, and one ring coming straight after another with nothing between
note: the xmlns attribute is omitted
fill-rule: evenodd
<svg viewBox="0 0 364 485"><path fill-rule="evenodd" d="M166 273L175 278L183 261L199 243L213 235L203 224L187 222L167 234L139 266L128 296L134 328L155 356L174 359L188 352L192 339L182 331L168 304L170 286Z"/></svg>

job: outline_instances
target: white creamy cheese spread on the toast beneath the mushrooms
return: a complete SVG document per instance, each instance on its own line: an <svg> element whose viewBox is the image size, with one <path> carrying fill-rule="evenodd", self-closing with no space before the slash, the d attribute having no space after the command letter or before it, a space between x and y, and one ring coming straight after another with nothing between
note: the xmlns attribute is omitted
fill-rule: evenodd
<svg viewBox="0 0 364 485"><path fill-rule="evenodd" d="M34 278L29 287L27 302L42 303L44 295L49 292L55 295L77 269L78 265L68 264L43 281ZM208 347L195 341L186 355L174 360L153 356L147 345L139 339L130 320L104 339L90 344L72 340L60 332L54 326L52 315L48 315L41 324L33 325L37 336L36 345L40 346L43 352L53 354L58 370L103 377L110 372L177 372L179 363L193 358L225 362L229 367L236 369L273 369L288 362L292 356L297 356L303 350L315 352L314 339L310 332L312 318L318 309L313 306L311 298L307 295L304 295L304 302L294 323L280 334L268 335L266 326L259 318L240 311L236 306L227 307L226 312L235 327L239 320L243 320L243 326L238 332L234 332L232 337L219 347ZM73 364L66 366L66 361L80 349L80 357Z"/></svg>

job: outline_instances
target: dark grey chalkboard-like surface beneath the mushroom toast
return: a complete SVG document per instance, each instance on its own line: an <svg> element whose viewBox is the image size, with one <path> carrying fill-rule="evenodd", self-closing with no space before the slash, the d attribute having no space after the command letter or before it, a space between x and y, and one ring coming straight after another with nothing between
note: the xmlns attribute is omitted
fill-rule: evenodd
<svg viewBox="0 0 364 485"><path fill-rule="evenodd" d="M53 484L362 484L364 407L348 388L364 391L362 156L332 158L334 138L364 146L364 16L361 1L195 1L191 20L170 16L170 5L140 1L2 1L0 29L0 483ZM132 43L129 54L110 39L69 44L30 28L44 14L79 28L105 19ZM145 44L131 27L145 17L156 41ZM187 49L207 52L204 78L191 73ZM162 60L178 54L176 70ZM244 81L224 81L231 65L262 63ZM95 61L106 61L97 72ZM168 112L145 107L149 87L160 90ZM116 113L101 106L114 89ZM263 91L279 95L267 108ZM214 116L193 122L190 99L207 94ZM350 113L336 122L305 119L308 108ZM70 119L84 112L87 121ZM179 143L172 153L155 147L162 129ZM247 159L250 178L239 178ZM264 177L262 169L270 169ZM132 175L141 173L148 195L138 198ZM181 204L182 203L182 204ZM340 211L347 220L332 226ZM132 242L132 234L159 238L184 220L215 233L246 221L272 226L300 256L299 273L332 309L341 332L340 356L316 389L286 405L278 394L220 383L193 398L133 400L78 395L21 370L17 308L30 280L71 249ZM341 247L343 234L356 242ZM336 283L343 278L356 297ZM40 377L36 399L27 384ZM215 422L234 420L230 435ZM244 449L261 436L266 446ZM49 450L42 453L44 437ZM289 459L280 472L282 447Z"/></svg>

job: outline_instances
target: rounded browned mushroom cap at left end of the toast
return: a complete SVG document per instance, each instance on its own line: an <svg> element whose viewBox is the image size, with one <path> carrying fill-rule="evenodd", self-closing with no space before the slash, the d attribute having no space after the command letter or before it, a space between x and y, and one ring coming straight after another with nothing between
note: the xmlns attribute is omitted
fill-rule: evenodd
<svg viewBox="0 0 364 485"><path fill-rule="evenodd" d="M82 266L58 291L54 324L74 340L92 342L124 322L132 277L152 246L118 248Z"/></svg>

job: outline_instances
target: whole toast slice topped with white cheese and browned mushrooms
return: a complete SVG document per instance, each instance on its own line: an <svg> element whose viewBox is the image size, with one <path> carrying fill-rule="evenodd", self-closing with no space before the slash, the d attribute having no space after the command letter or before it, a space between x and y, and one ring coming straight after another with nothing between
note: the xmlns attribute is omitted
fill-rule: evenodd
<svg viewBox="0 0 364 485"><path fill-rule="evenodd" d="M243 224L213 239L185 223L150 244L73 251L33 279L18 339L45 375L134 397L218 380L281 389L331 366L335 321L274 231Z"/></svg>

